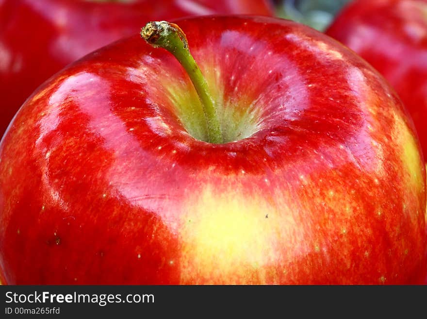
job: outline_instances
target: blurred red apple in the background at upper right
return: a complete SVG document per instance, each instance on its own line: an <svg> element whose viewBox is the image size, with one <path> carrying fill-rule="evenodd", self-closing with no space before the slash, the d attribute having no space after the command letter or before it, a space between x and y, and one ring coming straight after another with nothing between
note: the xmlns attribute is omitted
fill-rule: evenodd
<svg viewBox="0 0 427 319"><path fill-rule="evenodd" d="M375 67L408 108L427 154L427 0L357 0L326 34Z"/></svg>

